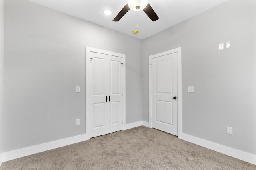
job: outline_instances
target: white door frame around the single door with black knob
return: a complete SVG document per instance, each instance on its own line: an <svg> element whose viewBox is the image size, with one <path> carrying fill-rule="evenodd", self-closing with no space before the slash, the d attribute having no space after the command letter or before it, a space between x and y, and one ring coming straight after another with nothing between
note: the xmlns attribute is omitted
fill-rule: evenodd
<svg viewBox="0 0 256 170"><path fill-rule="evenodd" d="M182 133L182 69L181 69L181 47L164 51L149 56L149 124L152 128L152 71L151 71L151 60L152 58L159 57L162 55L168 55L170 53L178 53L178 136Z"/></svg>

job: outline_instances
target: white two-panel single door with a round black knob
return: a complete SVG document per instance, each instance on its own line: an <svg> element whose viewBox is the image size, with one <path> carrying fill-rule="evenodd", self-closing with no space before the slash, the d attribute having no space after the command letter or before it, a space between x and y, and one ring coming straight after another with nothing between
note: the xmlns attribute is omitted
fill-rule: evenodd
<svg viewBox="0 0 256 170"><path fill-rule="evenodd" d="M178 135L178 54L150 57L152 127Z"/></svg>

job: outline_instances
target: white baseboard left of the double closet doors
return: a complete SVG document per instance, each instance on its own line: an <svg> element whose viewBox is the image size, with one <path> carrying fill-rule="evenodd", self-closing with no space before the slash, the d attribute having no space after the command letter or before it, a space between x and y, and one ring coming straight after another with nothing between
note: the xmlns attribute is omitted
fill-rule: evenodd
<svg viewBox="0 0 256 170"><path fill-rule="evenodd" d="M66 145L71 145L74 143L86 141L88 139L90 139L90 137L88 137L88 135L86 135L86 134L78 135L75 137L60 139L57 141L43 143L43 144L35 145L32 147L26 147L26 148L22 148L22 149L12 150L9 152L4 152L4 153L2 153L1 158L2 158L2 162L6 162L8 160L21 158L23 156L28 156L28 155L36 154L39 152L44 152L46 150L51 150L51 149L55 149L55 148L59 148L59 147L64 147Z"/></svg>

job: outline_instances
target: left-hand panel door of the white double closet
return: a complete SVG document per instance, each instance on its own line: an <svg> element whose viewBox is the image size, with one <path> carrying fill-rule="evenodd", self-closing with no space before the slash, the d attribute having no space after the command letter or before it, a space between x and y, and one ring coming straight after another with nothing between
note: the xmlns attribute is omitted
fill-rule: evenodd
<svg viewBox="0 0 256 170"><path fill-rule="evenodd" d="M90 53L90 138L108 133L108 55Z"/></svg>

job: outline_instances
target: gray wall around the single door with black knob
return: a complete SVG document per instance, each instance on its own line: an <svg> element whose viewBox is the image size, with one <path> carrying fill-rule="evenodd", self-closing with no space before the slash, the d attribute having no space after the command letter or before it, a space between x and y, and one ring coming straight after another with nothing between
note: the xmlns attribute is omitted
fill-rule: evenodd
<svg viewBox="0 0 256 170"><path fill-rule="evenodd" d="M182 47L182 132L256 154L255 1L228 1L143 41L143 120L148 56ZM231 48L218 44L231 41ZM188 93L188 86L195 93ZM233 127L233 135L226 134Z"/></svg>

